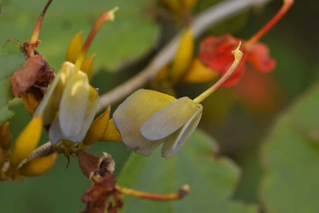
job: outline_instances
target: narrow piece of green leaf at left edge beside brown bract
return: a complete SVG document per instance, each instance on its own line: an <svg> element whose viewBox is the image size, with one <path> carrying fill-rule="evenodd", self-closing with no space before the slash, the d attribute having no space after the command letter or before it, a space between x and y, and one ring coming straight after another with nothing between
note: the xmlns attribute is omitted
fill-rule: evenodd
<svg viewBox="0 0 319 213"><path fill-rule="evenodd" d="M25 55L17 41L9 40L0 48L0 125L13 115L7 107L13 98L10 77L24 62Z"/></svg>

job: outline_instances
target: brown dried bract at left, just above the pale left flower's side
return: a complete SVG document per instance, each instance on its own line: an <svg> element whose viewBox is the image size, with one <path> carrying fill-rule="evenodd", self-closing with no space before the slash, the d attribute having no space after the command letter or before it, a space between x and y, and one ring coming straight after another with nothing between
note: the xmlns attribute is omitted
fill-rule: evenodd
<svg viewBox="0 0 319 213"><path fill-rule="evenodd" d="M42 55L33 55L11 76L12 94L21 97L32 86L46 88L54 79L53 71Z"/></svg>

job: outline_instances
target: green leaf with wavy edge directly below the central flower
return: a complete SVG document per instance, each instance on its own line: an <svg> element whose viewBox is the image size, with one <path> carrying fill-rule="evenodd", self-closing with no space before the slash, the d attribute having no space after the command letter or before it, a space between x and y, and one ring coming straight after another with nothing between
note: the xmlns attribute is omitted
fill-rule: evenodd
<svg viewBox="0 0 319 213"><path fill-rule="evenodd" d="M216 158L216 147L205 134L195 131L185 146L169 160L160 158L160 149L150 157L132 155L120 173L119 185L151 193L171 193L188 183L190 193L176 202L126 197L122 212L256 212L254 205L245 206L230 200L240 171L228 158Z"/></svg>

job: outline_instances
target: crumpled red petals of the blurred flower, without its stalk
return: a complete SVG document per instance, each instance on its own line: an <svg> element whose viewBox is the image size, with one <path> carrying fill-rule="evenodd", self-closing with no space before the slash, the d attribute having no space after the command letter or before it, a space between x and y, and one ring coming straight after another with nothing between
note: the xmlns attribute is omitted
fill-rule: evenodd
<svg viewBox="0 0 319 213"><path fill-rule="evenodd" d="M229 51L236 47L239 40L229 34L220 37L209 36L201 42L198 57L207 67L223 75L232 64L233 58ZM224 87L236 85L248 63L255 70L264 73L272 71L276 66L276 61L270 58L269 48L265 44L258 42L247 48L246 41L241 41L244 58L235 73L223 84Z"/></svg>

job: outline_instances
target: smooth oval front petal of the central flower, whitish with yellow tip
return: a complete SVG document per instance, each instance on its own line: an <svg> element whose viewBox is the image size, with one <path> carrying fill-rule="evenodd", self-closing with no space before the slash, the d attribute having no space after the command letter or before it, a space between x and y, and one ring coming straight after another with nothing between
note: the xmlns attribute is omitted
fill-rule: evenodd
<svg viewBox="0 0 319 213"><path fill-rule="evenodd" d="M185 125L197 110L193 100L188 97L178 98L143 123L140 131L148 140L163 139Z"/></svg>

